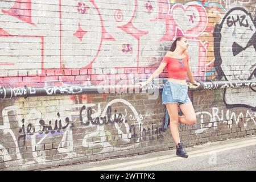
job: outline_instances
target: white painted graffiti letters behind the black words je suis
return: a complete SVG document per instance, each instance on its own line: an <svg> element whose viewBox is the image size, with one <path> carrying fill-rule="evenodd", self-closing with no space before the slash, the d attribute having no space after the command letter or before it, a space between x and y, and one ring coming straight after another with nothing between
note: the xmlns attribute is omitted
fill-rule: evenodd
<svg viewBox="0 0 256 182"><path fill-rule="evenodd" d="M57 113L56 117L48 118L49 121L46 123L43 119L40 119L42 118L42 113L36 109L32 109L26 115L26 118L22 118L21 111L22 109L18 106L5 107L2 110L3 125L0 126L0 129L6 134L6 136L11 135L10 142L15 143L16 159L23 159L24 156L27 156L26 158L34 158L36 162L49 161L46 159L46 152L43 151L44 147L42 144L43 140L48 136L53 137L55 135L63 135L58 151L68 152L71 150L73 146L73 123L69 125L69 118L71 117L64 117L64 115ZM64 112L63 114L68 115L68 112ZM51 121L55 121L53 129ZM18 131L15 132L14 129L18 129ZM31 156L28 155L30 152L27 152L27 140L29 140L29 145L31 146ZM68 142L67 147L64 144L66 140ZM8 148L10 148L10 146ZM30 164L31 161L27 162L26 159L24 159L23 163Z"/></svg>

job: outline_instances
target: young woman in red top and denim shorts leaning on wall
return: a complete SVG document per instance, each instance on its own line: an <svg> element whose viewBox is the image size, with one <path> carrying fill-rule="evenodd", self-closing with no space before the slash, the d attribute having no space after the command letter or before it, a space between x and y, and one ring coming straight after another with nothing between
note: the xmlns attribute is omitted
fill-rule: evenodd
<svg viewBox="0 0 256 182"><path fill-rule="evenodd" d="M188 40L184 37L177 38L166 53L158 69L148 78L147 81L138 82L140 88L148 84L152 79L158 77L167 66L168 81L165 83L162 93L162 104L166 105L170 116L170 130L172 138L176 143L176 154L187 158L183 144L180 142L178 124L193 125L196 122L196 114L192 102L188 97L188 86L186 77L188 76L192 84L200 84L193 79L191 68L189 67L189 56L187 53ZM179 117L178 106L184 115Z"/></svg>

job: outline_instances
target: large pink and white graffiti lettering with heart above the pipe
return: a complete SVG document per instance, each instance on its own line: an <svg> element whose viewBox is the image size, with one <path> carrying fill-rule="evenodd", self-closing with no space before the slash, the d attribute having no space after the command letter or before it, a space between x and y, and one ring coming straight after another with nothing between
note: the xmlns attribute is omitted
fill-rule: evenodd
<svg viewBox="0 0 256 182"><path fill-rule="evenodd" d="M34 82L72 82L75 78L44 78L72 68L97 68L104 75L107 68L151 67L180 35L191 42L192 71L205 77L208 43L199 36L208 15L199 2L16 0L1 1L0 7L0 76L16 76L11 82L21 83L18 77L27 75L35 76Z"/></svg>

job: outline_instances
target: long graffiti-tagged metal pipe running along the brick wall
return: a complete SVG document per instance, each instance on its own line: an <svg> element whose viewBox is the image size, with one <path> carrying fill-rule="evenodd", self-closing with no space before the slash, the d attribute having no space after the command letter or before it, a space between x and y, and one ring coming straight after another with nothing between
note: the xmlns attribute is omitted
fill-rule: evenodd
<svg viewBox="0 0 256 182"><path fill-rule="evenodd" d="M239 81L198 81L200 86L187 82L189 90L216 90L228 88L246 88L256 86L256 80ZM0 88L0 99L10 99L13 97L39 97L39 96L63 96L77 94L102 94L102 93L154 93L156 89L163 89L163 83L147 84L143 88L139 85L108 85L108 86L44 86L44 87L19 87L11 88L2 86Z"/></svg>

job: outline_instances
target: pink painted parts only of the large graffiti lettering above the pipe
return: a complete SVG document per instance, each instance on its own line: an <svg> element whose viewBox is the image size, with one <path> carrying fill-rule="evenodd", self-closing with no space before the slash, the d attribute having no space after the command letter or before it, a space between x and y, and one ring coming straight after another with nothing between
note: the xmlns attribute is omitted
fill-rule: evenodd
<svg viewBox="0 0 256 182"><path fill-rule="evenodd" d="M144 3L143 9L146 9L144 11L146 11L146 13L148 12L148 16L150 16L150 12L152 11L156 11L156 4L153 4L154 2L151 1L146 1ZM157 3L157 2L156 2ZM143 49L140 47L141 46L141 39L142 36L146 36L148 34L150 34L150 32L144 30L141 27L138 27L136 23L138 23L138 21L136 21L136 18L138 18L136 16L136 14L138 13L138 0L134 1L133 4L133 9L131 11L131 14L129 15L130 19L127 20L126 23L123 24L119 24L119 26L116 26L114 28L119 28L121 31L125 32L126 34L130 35L132 38L135 39L135 44L133 42L126 42L126 43L122 43L121 44L121 51L125 54L127 53L135 53L135 56L137 56L137 66L135 65L134 67L129 67L129 69L127 69L128 71L130 70L131 72L134 73L141 73L141 75L143 75L143 77L147 77L148 74L150 74L152 72L152 70L150 69L150 72L144 73L144 72L136 72L135 70L138 71L138 69L142 68L144 70L144 68L146 67L139 67L139 59L140 59L140 55L141 55L141 51L143 51ZM101 36L97 36L96 39L98 40L98 44L97 47L94 48L95 52L90 56L88 63L86 62L86 64L82 65L80 68L80 72L78 73L79 75L73 75L73 69L69 69L69 68L65 68L65 62L70 61L65 59L64 60L64 56L65 55L65 51L64 51L64 47L65 47L65 41L64 38L65 37L72 37L76 36L77 39L80 40L80 42L83 44L84 41L86 40L86 36L88 36L90 30L89 28L86 28L85 30L85 24L83 24L81 21L76 22L76 30L73 30L73 32L71 32L71 36L67 36L64 35L65 34L65 30L67 30L64 25L65 25L65 21L67 20L67 18L63 18L65 11L62 10L63 9L63 5L62 5L62 0L59 0L59 12L57 14L59 14L59 42L57 44L59 44L59 49L57 49L57 51L59 52L59 60L57 60L57 66L55 66L54 68L49 68L49 66L47 68L45 68L46 66L44 65L44 49L46 48L45 45L48 45L47 43L44 44L44 41L46 40L46 36L42 36L42 35L36 35L36 36L30 36L30 35L10 35L9 32L7 32L5 30L5 27L1 27L0 28L0 38L1 37L10 37L12 39L15 38L19 38L19 37L26 37L27 39L35 39L37 41L37 43L39 43L41 45L41 50L42 52L40 52L40 56L42 57L40 61L40 65L41 67L38 71L38 73L18 73L18 75L16 75L16 77L13 77L13 80L15 80L16 82L18 82L20 85L22 86L24 84L26 84L24 82L24 80L29 81L31 84L30 86L32 86L32 84L35 85L43 85L44 81L50 81L55 80L55 81L63 81L63 82L69 82L69 83L81 83L86 81L86 79L92 79L95 78L97 79L98 77L85 77L88 76L90 74L92 74L92 68L93 68L93 63L96 61L97 57L99 56L99 53L102 49L102 43L104 41L117 41L114 36L112 36L112 34L110 34L109 29L106 27L105 24L105 19L104 16L102 16L101 14L101 9L96 5L94 0L88 0L88 2L85 1L79 1L79 2L75 2L75 8L77 9L77 14L82 16L87 16L88 14L90 14L89 10L94 10L93 14L96 14L96 18L98 18L98 22L100 22L100 26L98 32L101 32ZM15 1L13 7L9 10L2 10L2 13L8 14L10 16L15 16L16 18L22 20L23 22L26 22L28 24L32 24L34 26L36 26L36 23L32 22L32 11L31 10L31 0L17 0ZM76 11L76 10L75 10ZM181 13L179 13L179 16L181 18L179 18L179 16L177 16L178 14L176 13L177 11L180 11ZM125 17L127 18L127 15L124 16L122 14L122 10L117 9L115 10L114 13L114 22L117 23L122 23L123 21L125 21ZM205 27L207 26L208 23L208 19L207 19L207 13L204 9L203 6L200 6L198 4L187 4L187 5L181 5L181 4L175 4L175 5L171 5L170 2L168 0L159 0L158 2L158 18L156 19L150 19L149 21L154 23L154 22L165 22L166 27L164 29L164 33L162 33L162 38L159 39L159 42L170 42L172 40L175 39L176 36L186 36L187 39L191 40L192 42L194 42L196 44L196 46L198 46L199 48L199 54L198 54L198 64L197 67L199 68L197 73L195 73L196 75L199 75L199 72L204 70L204 62L205 62L205 56L206 56L206 52L207 52L207 47L205 47L206 45L201 43L198 39L198 36L204 32ZM179 22L179 19L186 21L186 23L189 25L188 28L184 28L183 26L181 26L181 23ZM67 24L67 23L66 23ZM94 26L95 27L95 26ZM108 31L109 32L108 32ZM48 36L48 35L47 35ZM35 40L33 40L33 42L35 42ZM29 42L29 40L28 40ZM136 45L137 44L137 45ZM137 46L137 47L136 47ZM47 48L46 48L47 49ZM38 56L38 55L37 55ZM15 63L1 63L1 65L4 65L7 69L9 67L13 67L15 65ZM125 65L126 66L126 65ZM200 68L203 67L203 68ZM115 69L119 69L121 67L114 67ZM122 67L122 68L128 68L128 67ZM134 69L133 69L134 68ZM127 71L126 70L126 71ZM24 76L24 78L22 78ZM31 77L26 77L26 76L31 76ZM80 77L79 77L80 76ZM8 77L8 75L3 76L3 77ZM25 78L26 77L26 78ZM106 77L106 76L105 76ZM7 79L8 80L8 79ZM6 79L3 79L3 82L7 82ZM11 81L11 80L10 80ZM15 82L15 83L16 83ZM8 84L10 84L11 82L8 82ZM55 85L57 83L54 83Z"/></svg>

